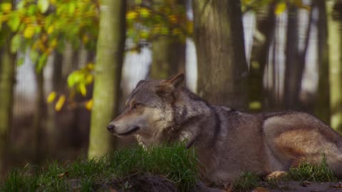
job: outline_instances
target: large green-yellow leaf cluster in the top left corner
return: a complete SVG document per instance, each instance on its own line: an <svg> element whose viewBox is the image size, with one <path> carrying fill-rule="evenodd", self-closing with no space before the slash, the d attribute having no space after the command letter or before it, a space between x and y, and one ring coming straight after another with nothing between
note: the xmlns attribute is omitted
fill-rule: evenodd
<svg viewBox="0 0 342 192"><path fill-rule="evenodd" d="M74 48L81 43L88 49L95 48L97 0L22 0L16 7L1 3L0 8L0 26L8 27L13 34L11 51L28 50L37 70L43 68L54 50L62 52L66 42ZM0 36L1 39L8 37ZM19 60L21 64L24 59Z"/></svg>

